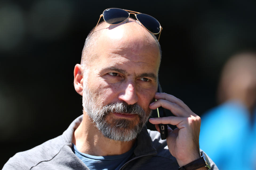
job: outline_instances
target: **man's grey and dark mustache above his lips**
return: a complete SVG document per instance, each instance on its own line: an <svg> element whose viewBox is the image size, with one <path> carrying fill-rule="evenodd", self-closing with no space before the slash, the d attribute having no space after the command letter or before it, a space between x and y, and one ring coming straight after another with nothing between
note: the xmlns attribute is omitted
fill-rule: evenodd
<svg viewBox="0 0 256 170"><path fill-rule="evenodd" d="M129 105L125 102L122 103L112 103L104 106L102 108L106 114L108 113L125 113L125 114L138 114L139 117L145 116L145 111L142 109L142 107L135 103L133 105Z"/></svg>

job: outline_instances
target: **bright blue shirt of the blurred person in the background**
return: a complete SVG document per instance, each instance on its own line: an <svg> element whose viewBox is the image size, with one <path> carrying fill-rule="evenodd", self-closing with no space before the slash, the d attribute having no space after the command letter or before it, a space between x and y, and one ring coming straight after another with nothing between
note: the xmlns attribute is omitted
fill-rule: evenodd
<svg viewBox="0 0 256 170"><path fill-rule="evenodd" d="M256 109L254 112L256 115ZM228 101L202 116L200 148L219 169L256 168L256 119L238 101Z"/></svg>

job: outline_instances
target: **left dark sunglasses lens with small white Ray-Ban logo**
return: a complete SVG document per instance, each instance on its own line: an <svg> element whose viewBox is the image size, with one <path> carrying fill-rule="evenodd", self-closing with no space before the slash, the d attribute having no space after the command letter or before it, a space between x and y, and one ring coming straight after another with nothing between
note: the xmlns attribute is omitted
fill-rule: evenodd
<svg viewBox="0 0 256 170"><path fill-rule="evenodd" d="M103 11L103 18L109 24L120 24L129 17L129 13L119 8L109 8Z"/></svg>

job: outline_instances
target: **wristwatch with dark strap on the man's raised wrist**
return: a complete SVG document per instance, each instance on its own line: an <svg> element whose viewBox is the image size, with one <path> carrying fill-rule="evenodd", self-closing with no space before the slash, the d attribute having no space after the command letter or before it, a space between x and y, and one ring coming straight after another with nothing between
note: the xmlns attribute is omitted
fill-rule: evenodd
<svg viewBox="0 0 256 170"><path fill-rule="evenodd" d="M203 151L201 151L200 153L201 153L201 158L194 160L193 162L190 162L189 164L184 165L183 167L179 167L179 170L195 170L202 167L211 169L209 159L207 158L205 153L203 153Z"/></svg>

